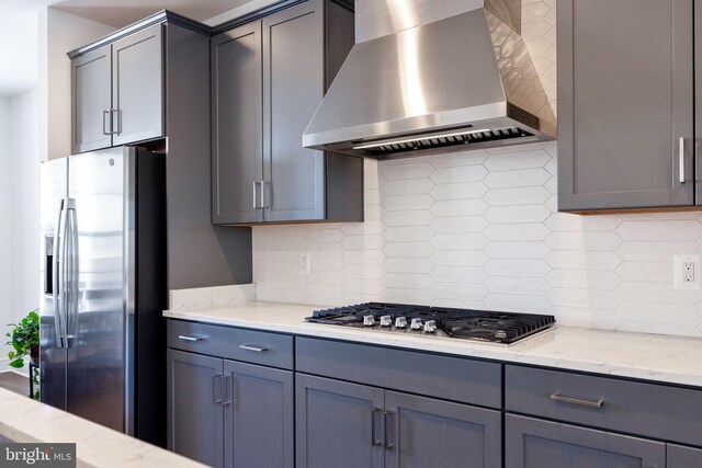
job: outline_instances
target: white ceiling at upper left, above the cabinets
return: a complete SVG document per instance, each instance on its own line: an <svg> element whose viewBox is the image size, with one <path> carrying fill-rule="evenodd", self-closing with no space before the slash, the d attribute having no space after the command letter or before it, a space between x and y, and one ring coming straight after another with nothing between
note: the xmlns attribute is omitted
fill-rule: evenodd
<svg viewBox="0 0 702 468"><path fill-rule="evenodd" d="M53 7L113 27L123 27L160 10L197 21L259 0L0 0L0 98L38 82L38 12Z"/></svg>

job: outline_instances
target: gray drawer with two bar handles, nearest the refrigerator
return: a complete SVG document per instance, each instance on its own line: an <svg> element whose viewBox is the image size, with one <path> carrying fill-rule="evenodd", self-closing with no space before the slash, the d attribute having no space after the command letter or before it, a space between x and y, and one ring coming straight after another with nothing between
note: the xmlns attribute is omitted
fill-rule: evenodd
<svg viewBox="0 0 702 468"><path fill-rule="evenodd" d="M293 336L168 320L168 346L264 366L293 368Z"/></svg>

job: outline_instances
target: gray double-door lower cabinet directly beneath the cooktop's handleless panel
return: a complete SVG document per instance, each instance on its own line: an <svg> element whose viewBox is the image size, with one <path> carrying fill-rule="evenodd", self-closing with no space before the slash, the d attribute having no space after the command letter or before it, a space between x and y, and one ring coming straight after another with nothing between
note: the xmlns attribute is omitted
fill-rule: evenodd
<svg viewBox="0 0 702 468"><path fill-rule="evenodd" d="M484 467L501 460L499 411L296 375L297 467Z"/></svg>

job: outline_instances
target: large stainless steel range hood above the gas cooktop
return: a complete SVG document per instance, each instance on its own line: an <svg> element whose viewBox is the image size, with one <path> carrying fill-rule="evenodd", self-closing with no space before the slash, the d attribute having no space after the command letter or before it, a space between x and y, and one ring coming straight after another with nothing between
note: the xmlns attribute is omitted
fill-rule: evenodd
<svg viewBox="0 0 702 468"><path fill-rule="evenodd" d="M356 43L303 145L394 158L554 139L520 0L467 3L483 8Z"/></svg>

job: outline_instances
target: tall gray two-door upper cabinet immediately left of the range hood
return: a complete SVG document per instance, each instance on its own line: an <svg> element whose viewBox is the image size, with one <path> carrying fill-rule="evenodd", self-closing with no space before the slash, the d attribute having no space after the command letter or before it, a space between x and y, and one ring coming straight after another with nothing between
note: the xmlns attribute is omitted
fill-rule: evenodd
<svg viewBox="0 0 702 468"><path fill-rule="evenodd" d="M353 45L353 11L308 0L212 38L213 222L362 220L363 162L302 147Z"/></svg>

